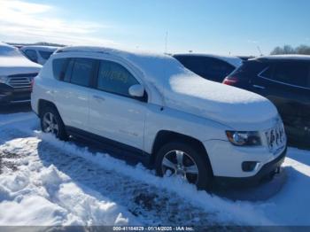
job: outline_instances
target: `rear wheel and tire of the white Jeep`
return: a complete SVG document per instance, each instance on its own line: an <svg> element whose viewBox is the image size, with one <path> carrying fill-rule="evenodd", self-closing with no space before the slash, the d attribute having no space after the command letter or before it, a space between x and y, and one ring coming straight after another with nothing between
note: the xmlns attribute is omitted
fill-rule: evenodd
<svg viewBox="0 0 310 232"><path fill-rule="evenodd" d="M41 113L40 120L41 128L44 133L53 134L60 140L67 140L68 136L66 135L66 128L64 122L63 120L61 120L61 117L55 107L44 107ZM48 126L48 120L52 121L52 127Z"/></svg>

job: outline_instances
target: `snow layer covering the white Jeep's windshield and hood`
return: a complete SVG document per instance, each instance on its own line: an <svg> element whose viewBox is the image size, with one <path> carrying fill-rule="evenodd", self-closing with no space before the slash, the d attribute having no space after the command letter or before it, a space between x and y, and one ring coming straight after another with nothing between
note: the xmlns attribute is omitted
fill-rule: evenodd
<svg viewBox="0 0 310 232"><path fill-rule="evenodd" d="M221 123L264 122L277 117L267 98L205 80L168 56L130 55L145 77L165 97L165 104Z"/></svg>

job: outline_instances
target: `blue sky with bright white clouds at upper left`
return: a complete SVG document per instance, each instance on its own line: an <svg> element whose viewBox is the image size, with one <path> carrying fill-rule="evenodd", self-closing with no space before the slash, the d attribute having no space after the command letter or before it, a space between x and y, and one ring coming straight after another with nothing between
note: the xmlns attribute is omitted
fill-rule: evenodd
<svg viewBox="0 0 310 232"><path fill-rule="evenodd" d="M308 0L0 0L0 41L267 54L310 45Z"/></svg>

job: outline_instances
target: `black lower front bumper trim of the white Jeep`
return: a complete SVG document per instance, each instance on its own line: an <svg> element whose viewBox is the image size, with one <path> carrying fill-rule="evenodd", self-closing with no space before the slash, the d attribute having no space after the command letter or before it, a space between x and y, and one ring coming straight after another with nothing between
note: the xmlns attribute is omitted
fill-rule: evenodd
<svg viewBox="0 0 310 232"><path fill-rule="evenodd" d="M221 186L242 186L251 187L260 184L261 182L270 180L280 169L286 156L287 148L274 160L266 163L260 168L260 171L248 177L224 177L214 176L214 181Z"/></svg>

